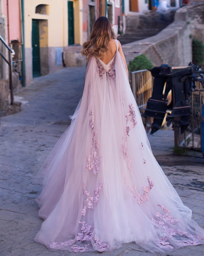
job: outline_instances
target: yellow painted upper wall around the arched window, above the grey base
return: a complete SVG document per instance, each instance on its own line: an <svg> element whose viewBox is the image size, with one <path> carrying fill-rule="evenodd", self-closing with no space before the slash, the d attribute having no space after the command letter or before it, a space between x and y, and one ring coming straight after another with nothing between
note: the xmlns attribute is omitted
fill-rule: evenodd
<svg viewBox="0 0 204 256"><path fill-rule="evenodd" d="M35 13L39 4L47 4L49 14ZM25 0L25 47L32 47L32 19L48 20L48 47L68 45L67 0Z"/></svg>

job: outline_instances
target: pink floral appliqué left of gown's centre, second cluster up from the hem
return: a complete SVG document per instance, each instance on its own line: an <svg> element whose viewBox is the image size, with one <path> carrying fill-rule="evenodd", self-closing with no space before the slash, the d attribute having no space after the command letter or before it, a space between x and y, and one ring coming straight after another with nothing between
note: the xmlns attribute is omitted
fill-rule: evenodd
<svg viewBox="0 0 204 256"><path fill-rule="evenodd" d="M99 186L94 190L94 194L95 194L94 197L91 196L90 189L88 191L84 190L85 184L83 186L83 195L87 196L86 200L83 201L83 209L82 209L82 215L83 216L86 215L86 209L87 208L94 209L93 205L98 203L98 197L99 197L99 194L100 194L100 190L103 186L103 183L101 182L99 177L98 177L98 184L99 184ZM88 202L87 205L85 205L86 202Z"/></svg>

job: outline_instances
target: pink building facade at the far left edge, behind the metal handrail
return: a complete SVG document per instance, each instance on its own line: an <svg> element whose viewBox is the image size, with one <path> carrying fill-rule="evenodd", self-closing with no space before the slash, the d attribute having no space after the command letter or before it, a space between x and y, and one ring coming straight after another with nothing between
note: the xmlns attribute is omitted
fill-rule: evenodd
<svg viewBox="0 0 204 256"><path fill-rule="evenodd" d="M21 109L21 103L13 98L13 91L21 86L21 28L20 0L0 0L0 116Z"/></svg>

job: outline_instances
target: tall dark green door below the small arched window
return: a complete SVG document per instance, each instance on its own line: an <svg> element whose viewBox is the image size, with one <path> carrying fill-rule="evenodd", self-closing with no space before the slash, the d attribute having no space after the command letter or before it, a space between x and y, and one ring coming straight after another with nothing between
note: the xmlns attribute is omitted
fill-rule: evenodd
<svg viewBox="0 0 204 256"><path fill-rule="evenodd" d="M39 20L32 20L33 77L40 74Z"/></svg>

